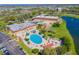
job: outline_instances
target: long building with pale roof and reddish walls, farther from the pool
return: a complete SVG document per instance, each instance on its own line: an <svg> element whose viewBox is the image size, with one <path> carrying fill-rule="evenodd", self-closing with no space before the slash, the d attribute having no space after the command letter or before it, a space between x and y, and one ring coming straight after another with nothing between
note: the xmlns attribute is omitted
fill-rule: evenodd
<svg viewBox="0 0 79 59"><path fill-rule="evenodd" d="M33 17L32 20L45 22L46 25L50 25L61 21L61 19L58 16L45 16L45 15L39 15L39 16Z"/></svg>

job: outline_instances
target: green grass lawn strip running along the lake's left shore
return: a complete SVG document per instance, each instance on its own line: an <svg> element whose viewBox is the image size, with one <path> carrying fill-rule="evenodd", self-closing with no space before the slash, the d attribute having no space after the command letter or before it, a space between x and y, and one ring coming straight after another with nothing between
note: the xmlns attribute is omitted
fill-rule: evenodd
<svg viewBox="0 0 79 59"><path fill-rule="evenodd" d="M63 21L59 27L52 27L52 29L54 29L54 31L55 31L55 37L57 37L57 38L64 37L66 43L69 44L68 45L69 52L71 52L71 54L76 54L73 38L71 37L68 29L66 28L66 22Z"/></svg>

